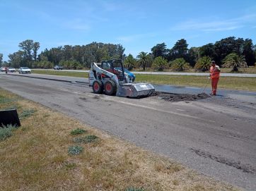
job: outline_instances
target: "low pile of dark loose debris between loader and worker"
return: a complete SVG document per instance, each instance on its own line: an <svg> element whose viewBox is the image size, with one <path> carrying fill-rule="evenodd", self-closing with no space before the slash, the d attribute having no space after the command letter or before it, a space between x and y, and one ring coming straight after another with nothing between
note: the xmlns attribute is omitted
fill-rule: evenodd
<svg viewBox="0 0 256 191"><path fill-rule="evenodd" d="M198 99L206 99L209 94L169 94L163 92L153 92L151 96L157 96L160 99L164 99L165 101L195 101Z"/></svg>

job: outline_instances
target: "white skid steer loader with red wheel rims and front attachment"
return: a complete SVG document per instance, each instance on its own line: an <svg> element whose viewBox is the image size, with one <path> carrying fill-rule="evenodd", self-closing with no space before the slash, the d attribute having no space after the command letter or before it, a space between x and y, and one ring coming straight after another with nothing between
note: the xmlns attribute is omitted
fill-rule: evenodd
<svg viewBox="0 0 256 191"><path fill-rule="evenodd" d="M122 60L91 63L88 79L96 94L105 92L119 97L148 97L155 92L148 82L132 82L132 78L124 73Z"/></svg>

